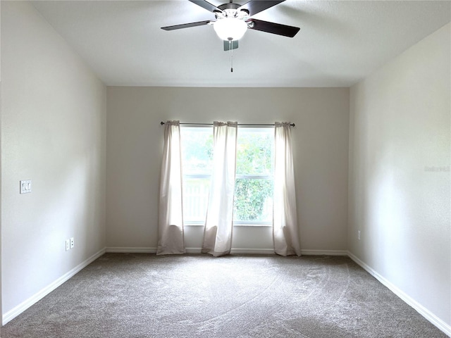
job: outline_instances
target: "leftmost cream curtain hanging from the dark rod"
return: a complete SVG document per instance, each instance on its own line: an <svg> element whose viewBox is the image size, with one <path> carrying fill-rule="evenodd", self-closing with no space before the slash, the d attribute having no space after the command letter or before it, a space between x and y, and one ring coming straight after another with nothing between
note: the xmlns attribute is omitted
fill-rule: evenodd
<svg viewBox="0 0 451 338"><path fill-rule="evenodd" d="M158 230L157 255L185 253L179 121L164 127Z"/></svg>

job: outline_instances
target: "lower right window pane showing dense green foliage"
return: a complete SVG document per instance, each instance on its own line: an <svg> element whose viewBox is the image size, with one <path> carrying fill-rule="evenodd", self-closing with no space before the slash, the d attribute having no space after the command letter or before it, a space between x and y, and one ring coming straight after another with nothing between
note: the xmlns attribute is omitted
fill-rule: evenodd
<svg viewBox="0 0 451 338"><path fill-rule="evenodd" d="M233 220L272 222L273 180L237 178Z"/></svg>

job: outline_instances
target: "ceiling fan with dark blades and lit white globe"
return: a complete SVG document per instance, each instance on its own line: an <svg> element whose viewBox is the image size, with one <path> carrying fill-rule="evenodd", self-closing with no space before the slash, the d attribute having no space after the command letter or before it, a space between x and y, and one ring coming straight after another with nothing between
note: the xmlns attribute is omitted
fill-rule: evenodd
<svg viewBox="0 0 451 338"><path fill-rule="evenodd" d="M260 30L261 32L283 35L284 37L294 37L299 32L299 27L269 23L268 21L251 18L252 15L276 6L285 0L251 0L244 5L235 4L230 0L227 4L217 7L205 0L189 1L214 13L215 19L161 27L162 30L180 30L181 28L213 25L218 37L224 41L224 51L237 49L238 40L245 35L248 28L249 30Z"/></svg>

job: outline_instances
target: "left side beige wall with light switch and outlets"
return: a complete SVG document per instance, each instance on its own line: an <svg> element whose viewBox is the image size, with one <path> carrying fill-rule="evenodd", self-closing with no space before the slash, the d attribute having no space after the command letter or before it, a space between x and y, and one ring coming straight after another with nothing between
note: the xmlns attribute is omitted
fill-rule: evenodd
<svg viewBox="0 0 451 338"><path fill-rule="evenodd" d="M1 70L5 316L104 249L106 87L23 1L1 1Z"/></svg>

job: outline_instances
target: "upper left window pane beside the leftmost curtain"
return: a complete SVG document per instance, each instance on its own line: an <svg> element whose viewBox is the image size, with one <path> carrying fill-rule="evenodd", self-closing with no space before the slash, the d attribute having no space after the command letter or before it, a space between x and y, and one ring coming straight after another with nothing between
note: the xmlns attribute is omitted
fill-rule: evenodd
<svg viewBox="0 0 451 338"><path fill-rule="evenodd" d="M183 175L211 175L213 131L211 127L182 127Z"/></svg>

